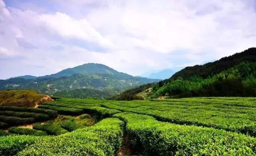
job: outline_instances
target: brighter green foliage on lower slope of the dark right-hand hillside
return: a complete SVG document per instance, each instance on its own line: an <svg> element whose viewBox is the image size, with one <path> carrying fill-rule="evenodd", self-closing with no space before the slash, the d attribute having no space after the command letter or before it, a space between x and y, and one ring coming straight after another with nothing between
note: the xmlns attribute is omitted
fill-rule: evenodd
<svg viewBox="0 0 256 156"><path fill-rule="evenodd" d="M165 96L166 93L176 97L256 96L255 71L256 62L242 62L208 78L195 76L183 80L178 77L158 88L151 97Z"/></svg>

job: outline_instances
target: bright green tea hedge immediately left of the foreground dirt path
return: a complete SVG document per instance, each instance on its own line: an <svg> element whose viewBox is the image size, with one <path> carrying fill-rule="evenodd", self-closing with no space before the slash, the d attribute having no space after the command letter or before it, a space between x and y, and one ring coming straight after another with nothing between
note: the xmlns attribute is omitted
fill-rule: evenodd
<svg viewBox="0 0 256 156"><path fill-rule="evenodd" d="M39 141L19 155L114 156L122 143L122 128L122 121L106 118L94 126Z"/></svg>

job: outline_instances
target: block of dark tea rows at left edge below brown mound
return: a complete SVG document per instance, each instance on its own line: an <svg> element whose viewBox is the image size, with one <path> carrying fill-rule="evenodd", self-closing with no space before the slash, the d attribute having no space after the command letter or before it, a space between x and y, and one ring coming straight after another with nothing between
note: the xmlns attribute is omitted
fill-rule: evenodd
<svg viewBox="0 0 256 156"><path fill-rule="evenodd" d="M41 108L0 106L0 129L53 119L57 111Z"/></svg>

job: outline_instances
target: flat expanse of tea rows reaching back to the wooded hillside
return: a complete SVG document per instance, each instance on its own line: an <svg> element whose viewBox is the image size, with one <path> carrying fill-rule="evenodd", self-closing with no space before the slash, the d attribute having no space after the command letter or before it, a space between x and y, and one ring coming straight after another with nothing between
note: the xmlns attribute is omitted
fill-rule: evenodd
<svg viewBox="0 0 256 156"><path fill-rule="evenodd" d="M196 125L241 132L256 136L256 98L183 98L154 101L58 99L52 105L83 107L85 112L100 112L111 116L118 112L133 112L153 116L157 120L176 124ZM72 103L73 102L73 103ZM112 113L110 113L110 110ZM102 113L102 111L101 111Z"/></svg>

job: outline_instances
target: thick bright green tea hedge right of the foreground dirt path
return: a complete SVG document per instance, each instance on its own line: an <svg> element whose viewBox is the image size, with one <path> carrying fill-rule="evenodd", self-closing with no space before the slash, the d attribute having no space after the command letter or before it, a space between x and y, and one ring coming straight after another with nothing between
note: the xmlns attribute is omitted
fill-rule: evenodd
<svg viewBox="0 0 256 156"><path fill-rule="evenodd" d="M158 122L151 116L120 113L134 147L145 155L255 155L256 139L234 132Z"/></svg>

